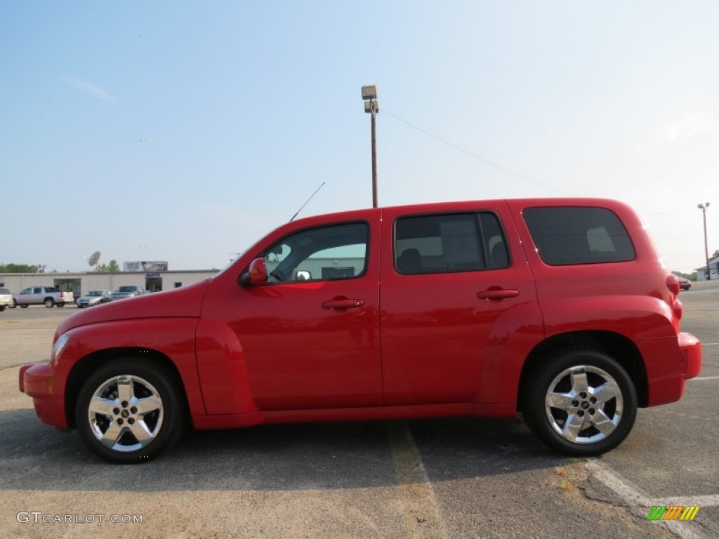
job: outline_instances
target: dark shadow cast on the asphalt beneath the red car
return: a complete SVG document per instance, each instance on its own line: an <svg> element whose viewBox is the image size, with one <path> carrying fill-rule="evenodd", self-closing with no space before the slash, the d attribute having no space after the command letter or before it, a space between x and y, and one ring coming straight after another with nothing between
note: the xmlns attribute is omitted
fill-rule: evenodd
<svg viewBox="0 0 719 539"><path fill-rule="evenodd" d="M521 420L445 418L411 422L262 425L193 431L168 453L113 465L90 453L77 433L60 432L32 410L0 413L0 489L295 490L397 484L398 444L416 452L433 481L496 476L567 464ZM393 435L393 433L395 433ZM393 441L390 441L390 438ZM401 448L407 453L407 448Z"/></svg>

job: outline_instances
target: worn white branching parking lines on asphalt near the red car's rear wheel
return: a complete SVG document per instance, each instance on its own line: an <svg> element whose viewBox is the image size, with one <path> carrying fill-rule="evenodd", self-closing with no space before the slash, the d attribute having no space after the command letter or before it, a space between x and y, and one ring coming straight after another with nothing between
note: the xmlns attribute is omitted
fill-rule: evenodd
<svg viewBox="0 0 719 539"><path fill-rule="evenodd" d="M602 464L597 459L590 459L586 464L587 471L591 476L599 482L613 490L618 494L620 501L628 506L633 515L646 520L651 507L654 505L698 505L700 507L715 507L719 505L719 494L710 494L708 496L662 496L649 497L643 490L635 484L623 479L619 474L610 469L609 466ZM696 527L689 522L680 522L672 520L654 521L652 525L664 525L672 533L682 539L703 539L705 535L697 530Z"/></svg>

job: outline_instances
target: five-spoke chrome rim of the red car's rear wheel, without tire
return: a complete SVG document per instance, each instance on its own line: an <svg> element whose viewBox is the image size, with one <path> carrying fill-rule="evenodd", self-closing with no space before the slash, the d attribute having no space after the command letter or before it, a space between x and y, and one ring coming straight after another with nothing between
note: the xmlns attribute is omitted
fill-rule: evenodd
<svg viewBox="0 0 719 539"><path fill-rule="evenodd" d="M551 428L572 443L604 440L622 418L624 400L616 380L598 367L564 369L549 384L544 399Z"/></svg>

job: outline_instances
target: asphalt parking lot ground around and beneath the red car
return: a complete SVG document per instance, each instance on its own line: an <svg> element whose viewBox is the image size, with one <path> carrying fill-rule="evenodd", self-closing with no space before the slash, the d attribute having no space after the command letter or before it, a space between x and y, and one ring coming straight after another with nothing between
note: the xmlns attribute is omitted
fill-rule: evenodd
<svg viewBox="0 0 719 539"><path fill-rule="evenodd" d="M558 456L521 420L462 418L199 432L155 461L109 465L40 423L17 389L17 365L45 359L75 308L5 310L0 535L719 537L719 283L681 298L684 331L705 345L700 376L680 402L639 410L600 459ZM654 505L700 510L650 522Z"/></svg>

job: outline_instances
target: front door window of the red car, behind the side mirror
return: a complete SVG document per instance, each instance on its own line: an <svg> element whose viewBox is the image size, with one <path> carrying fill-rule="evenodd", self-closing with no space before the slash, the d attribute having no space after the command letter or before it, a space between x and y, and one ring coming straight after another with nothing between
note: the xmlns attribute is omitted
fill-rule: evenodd
<svg viewBox="0 0 719 539"><path fill-rule="evenodd" d="M359 277L367 267L369 226L348 223L296 232L267 249L267 282Z"/></svg>

